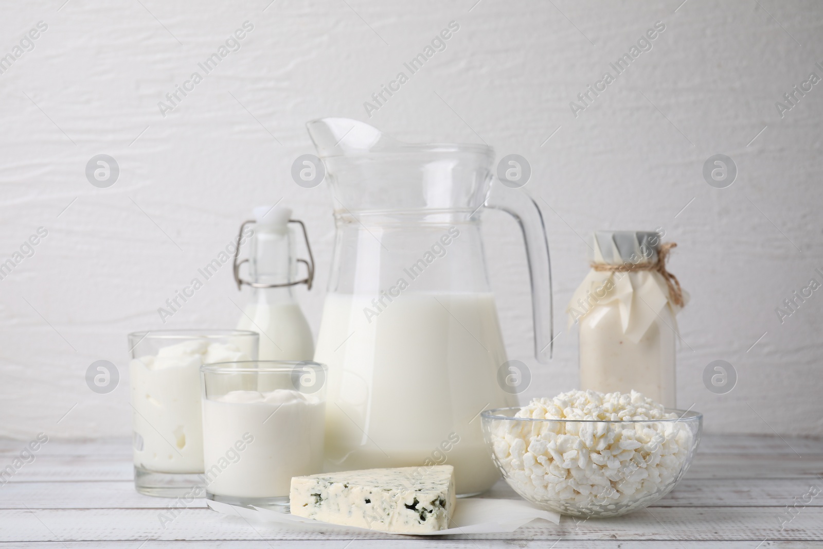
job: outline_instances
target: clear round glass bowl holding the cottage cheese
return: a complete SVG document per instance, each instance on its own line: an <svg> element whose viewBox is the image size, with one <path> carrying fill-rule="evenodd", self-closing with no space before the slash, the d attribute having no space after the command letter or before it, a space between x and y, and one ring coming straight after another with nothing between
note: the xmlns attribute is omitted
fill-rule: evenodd
<svg viewBox="0 0 823 549"><path fill-rule="evenodd" d="M703 414L673 419L552 420L481 413L491 458L514 491L541 509L616 517L653 504L680 482L703 430Z"/></svg>

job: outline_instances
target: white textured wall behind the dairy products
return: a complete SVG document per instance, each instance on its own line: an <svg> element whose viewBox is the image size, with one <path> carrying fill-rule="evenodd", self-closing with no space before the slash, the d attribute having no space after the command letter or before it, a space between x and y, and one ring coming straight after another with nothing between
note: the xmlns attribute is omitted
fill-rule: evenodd
<svg viewBox="0 0 823 549"><path fill-rule="evenodd" d="M319 281L299 294L316 331L333 229L325 186L291 181L291 162L312 151L304 123L367 119L363 102L449 21L460 30L448 48L371 122L531 162L525 190L550 231L558 317L587 270L578 235L663 227L692 295L681 407L704 412L710 431L823 434L823 290L783 324L774 313L823 281L823 83L782 119L774 105L810 72L823 77L819 2L62 2L3 2L0 16L0 55L48 25L0 75L0 260L49 231L0 281L0 435L128 434L128 382L95 394L86 368L109 360L125 376L125 334L160 328L157 307L260 203L285 197L308 223ZM242 48L161 116L158 101L244 21ZM655 21L666 30L653 49L575 118L570 100ZM119 163L110 188L86 180L100 153ZM701 175L716 153L737 164L729 188ZM502 214L486 222L509 355L534 375L524 396L573 388L564 319L551 365L529 358L519 235ZM243 298L226 266L166 327L233 327L231 300ZM737 370L730 393L704 387L716 359Z"/></svg>

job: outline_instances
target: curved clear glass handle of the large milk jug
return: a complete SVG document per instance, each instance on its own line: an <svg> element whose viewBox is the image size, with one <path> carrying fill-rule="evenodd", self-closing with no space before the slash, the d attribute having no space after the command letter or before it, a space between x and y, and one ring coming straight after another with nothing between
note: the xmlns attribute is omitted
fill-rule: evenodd
<svg viewBox="0 0 823 549"><path fill-rule="evenodd" d="M486 207L508 213L518 222L526 244L528 274L532 283L534 356L546 364L554 343L554 311L551 306L551 261L546 226L537 202L522 190L505 188L494 180L486 196Z"/></svg>

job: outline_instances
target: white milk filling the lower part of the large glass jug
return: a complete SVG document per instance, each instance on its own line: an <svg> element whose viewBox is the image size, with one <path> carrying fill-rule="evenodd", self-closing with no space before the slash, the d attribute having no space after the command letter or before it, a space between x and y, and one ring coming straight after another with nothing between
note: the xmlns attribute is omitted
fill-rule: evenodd
<svg viewBox="0 0 823 549"><path fill-rule="evenodd" d="M514 406L497 383L506 361L491 293L329 293L314 360L328 365L327 471L448 463L458 494L499 478L480 412ZM379 411L379 413L373 413Z"/></svg>

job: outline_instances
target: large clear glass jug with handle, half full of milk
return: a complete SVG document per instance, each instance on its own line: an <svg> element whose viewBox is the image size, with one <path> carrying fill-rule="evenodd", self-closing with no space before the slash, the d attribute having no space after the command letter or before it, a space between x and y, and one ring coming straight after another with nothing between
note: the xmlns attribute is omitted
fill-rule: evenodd
<svg viewBox="0 0 823 549"><path fill-rule="evenodd" d="M350 119L309 122L334 201L332 275L314 360L328 365L327 471L455 468L460 495L498 479L486 408L516 406L479 211L513 215L532 282L535 351L551 355L542 216L494 185L484 145L408 144Z"/></svg>

